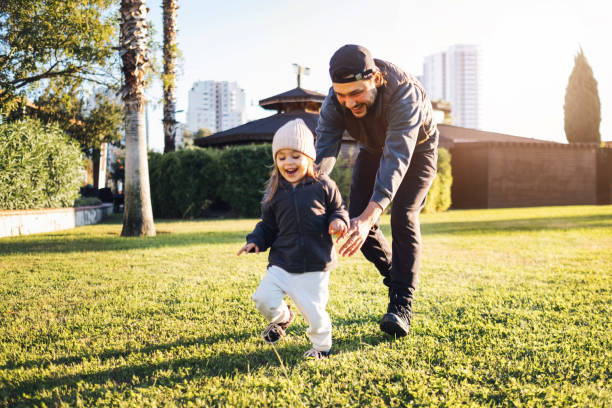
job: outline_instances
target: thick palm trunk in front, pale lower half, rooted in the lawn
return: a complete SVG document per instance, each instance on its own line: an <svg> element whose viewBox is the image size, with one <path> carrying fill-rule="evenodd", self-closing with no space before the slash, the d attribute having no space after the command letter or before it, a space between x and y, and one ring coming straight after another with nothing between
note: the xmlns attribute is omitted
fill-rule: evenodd
<svg viewBox="0 0 612 408"><path fill-rule="evenodd" d="M147 7L121 0L121 49L125 102L125 208L121 235L154 236L145 129L145 74L149 66Z"/></svg>

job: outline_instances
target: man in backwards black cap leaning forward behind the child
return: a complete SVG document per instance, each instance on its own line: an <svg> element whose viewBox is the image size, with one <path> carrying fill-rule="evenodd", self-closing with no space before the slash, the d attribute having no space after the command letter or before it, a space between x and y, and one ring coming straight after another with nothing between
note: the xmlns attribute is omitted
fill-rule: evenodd
<svg viewBox="0 0 612 408"><path fill-rule="evenodd" d="M389 288L380 329L405 336L421 255L419 212L436 175L438 129L422 85L395 65L373 59L359 45L345 45L329 62L332 88L317 125L317 163L333 168L346 130L359 142L353 169L348 239L339 252L359 249ZM379 217L391 205L389 247Z"/></svg>

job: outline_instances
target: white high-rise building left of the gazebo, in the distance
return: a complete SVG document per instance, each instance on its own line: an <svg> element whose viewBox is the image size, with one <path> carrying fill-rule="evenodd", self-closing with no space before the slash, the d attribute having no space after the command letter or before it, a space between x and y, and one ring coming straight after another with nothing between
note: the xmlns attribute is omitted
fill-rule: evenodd
<svg viewBox="0 0 612 408"><path fill-rule="evenodd" d="M189 91L187 129L221 132L246 122L244 89L236 82L198 81Z"/></svg>

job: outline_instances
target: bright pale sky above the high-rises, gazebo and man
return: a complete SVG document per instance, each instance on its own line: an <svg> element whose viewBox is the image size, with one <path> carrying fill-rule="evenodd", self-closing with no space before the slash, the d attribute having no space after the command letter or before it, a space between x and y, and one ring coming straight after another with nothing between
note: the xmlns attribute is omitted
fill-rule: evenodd
<svg viewBox="0 0 612 408"><path fill-rule="evenodd" d="M149 20L162 41L161 0ZM236 81L247 117L275 112L261 99L296 87L294 63L310 68L302 87L327 93L329 58L344 44L414 75L424 57L453 44L481 52L482 130L566 142L563 104L580 47L601 101L602 140L612 140L612 21L609 0L178 0L177 120L199 80ZM161 55L159 56L161 61ZM148 92L150 147L163 150L161 84Z"/></svg>

